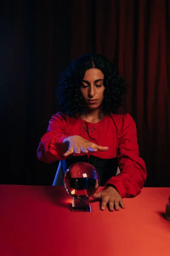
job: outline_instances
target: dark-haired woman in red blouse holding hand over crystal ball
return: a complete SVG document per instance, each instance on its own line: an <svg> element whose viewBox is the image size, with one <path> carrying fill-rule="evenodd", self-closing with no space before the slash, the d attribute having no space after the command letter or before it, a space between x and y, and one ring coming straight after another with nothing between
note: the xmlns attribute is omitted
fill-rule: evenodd
<svg viewBox="0 0 170 256"><path fill-rule="evenodd" d="M113 113L122 105L125 91L124 80L102 55L74 60L59 82L62 112L51 117L37 149L39 160L62 160L62 169L81 161L95 166L105 189L93 198L101 198L102 210L107 204L111 211L124 208L122 198L138 195L147 176L135 122L128 113ZM116 176L117 166L120 174Z"/></svg>

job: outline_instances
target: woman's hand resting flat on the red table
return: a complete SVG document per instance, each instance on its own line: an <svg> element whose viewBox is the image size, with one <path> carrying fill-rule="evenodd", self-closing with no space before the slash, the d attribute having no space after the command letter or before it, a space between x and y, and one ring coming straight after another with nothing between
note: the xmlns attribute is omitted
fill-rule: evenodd
<svg viewBox="0 0 170 256"><path fill-rule="evenodd" d="M108 188L103 190L102 192L92 195L92 198L94 199L100 198L102 200L102 204L101 204L102 211L105 210L107 204L111 212L114 211L114 208L116 209L116 211L119 211L119 206L121 208L125 208L125 204L119 192L117 192L117 190L112 186L108 186Z"/></svg>

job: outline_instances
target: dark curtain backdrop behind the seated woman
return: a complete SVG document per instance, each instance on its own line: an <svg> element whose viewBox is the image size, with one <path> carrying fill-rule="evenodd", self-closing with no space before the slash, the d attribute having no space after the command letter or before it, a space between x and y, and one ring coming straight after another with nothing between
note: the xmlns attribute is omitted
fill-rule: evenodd
<svg viewBox="0 0 170 256"><path fill-rule="evenodd" d="M170 1L0 1L0 183L51 185L58 163L37 160L66 65L97 52L129 84L146 186L170 186Z"/></svg>

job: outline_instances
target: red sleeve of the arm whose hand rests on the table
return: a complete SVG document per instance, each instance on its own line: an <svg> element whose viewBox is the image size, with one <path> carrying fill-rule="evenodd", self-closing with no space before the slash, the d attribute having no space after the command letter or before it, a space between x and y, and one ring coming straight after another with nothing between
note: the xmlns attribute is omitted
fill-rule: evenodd
<svg viewBox="0 0 170 256"><path fill-rule="evenodd" d="M146 181L145 163L139 157L136 124L129 114L125 114L119 133L118 165L120 174L111 177L106 184L112 184L122 198L134 197L141 192Z"/></svg>

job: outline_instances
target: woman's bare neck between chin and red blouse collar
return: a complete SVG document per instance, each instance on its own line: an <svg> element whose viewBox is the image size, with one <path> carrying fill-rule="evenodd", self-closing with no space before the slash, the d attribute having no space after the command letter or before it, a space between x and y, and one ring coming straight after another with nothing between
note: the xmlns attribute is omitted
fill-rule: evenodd
<svg viewBox="0 0 170 256"><path fill-rule="evenodd" d="M88 122L95 122L98 121L99 119L101 119L104 116L103 111L101 110L101 108L97 108L94 110L89 110L86 109L83 113L82 113L82 118L84 118L86 121Z"/></svg>

